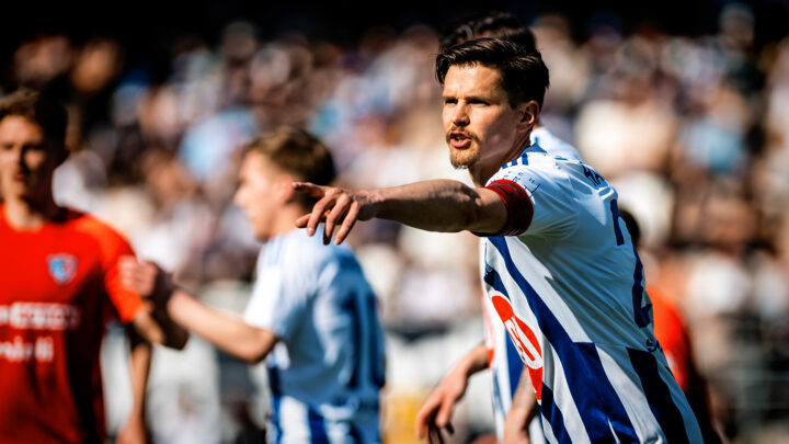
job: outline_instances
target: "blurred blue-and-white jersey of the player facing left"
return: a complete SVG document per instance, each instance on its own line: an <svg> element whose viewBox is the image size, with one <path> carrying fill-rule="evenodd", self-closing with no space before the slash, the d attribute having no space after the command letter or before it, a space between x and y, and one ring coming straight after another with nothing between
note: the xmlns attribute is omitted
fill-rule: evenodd
<svg viewBox="0 0 789 444"><path fill-rule="evenodd" d="M304 230L271 239L244 320L279 338L266 360L268 442L380 442L384 333L351 249Z"/></svg>

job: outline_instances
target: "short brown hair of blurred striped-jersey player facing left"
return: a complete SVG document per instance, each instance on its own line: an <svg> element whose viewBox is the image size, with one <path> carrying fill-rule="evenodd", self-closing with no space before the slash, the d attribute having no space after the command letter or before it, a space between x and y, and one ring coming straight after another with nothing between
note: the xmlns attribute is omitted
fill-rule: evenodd
<svg viewBox="0 0 789 444"><path fill-rule="evenodd" d="M247 145L247 152L263 155L299 181L328 185L336 175L329 147L304 129L283 126L263 134Z"/></svg>

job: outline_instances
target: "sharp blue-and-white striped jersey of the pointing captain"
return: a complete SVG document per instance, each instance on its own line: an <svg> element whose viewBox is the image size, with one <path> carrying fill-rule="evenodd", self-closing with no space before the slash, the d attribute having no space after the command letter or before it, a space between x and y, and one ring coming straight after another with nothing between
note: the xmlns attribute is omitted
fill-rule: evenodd
<svg viewBox="0 0 789 444"><path fill-rule="evenodd" d="M701 442L652 332L616 191L583 162L539 145L491 184L525 193L518 205L531 215L521 235L484 240L481 273L526 364L546 441Z"/></svg>

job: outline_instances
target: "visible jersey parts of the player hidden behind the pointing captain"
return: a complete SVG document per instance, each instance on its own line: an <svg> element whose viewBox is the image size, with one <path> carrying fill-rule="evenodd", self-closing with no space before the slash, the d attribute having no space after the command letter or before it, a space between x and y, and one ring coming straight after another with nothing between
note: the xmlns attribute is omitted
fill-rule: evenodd
<svg viewBox="0 0 789 444"><path fill-rule="evenodd" d="M531 130L529 136L531 145L536 149L541 148L546 153L570 160L581 160L581 156L572 145L556 137L546 127L538 127ZM484 253L484 241L481 243L480 253ZM480 259L484 261L484 257ZM483 306L485 321L485 345L488 348L489 366L493 378L493 421L499 442L504 439L504 419L510 411L512 398L517 389L524 363L510 339L504 325L496 316L490 299L485 299ZM529 425L529 439L531 444L542 444L542 426L539 418L535 418Z"/></svg>

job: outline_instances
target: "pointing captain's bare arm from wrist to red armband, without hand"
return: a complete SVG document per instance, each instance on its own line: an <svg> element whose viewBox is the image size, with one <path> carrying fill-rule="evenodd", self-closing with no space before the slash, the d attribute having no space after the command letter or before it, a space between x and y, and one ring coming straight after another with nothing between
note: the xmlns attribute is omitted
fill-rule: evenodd
<svg viewBox="0 0 789 444"><path fill-rule="evenodd" d="M431 231L499 230L506 219L498 197L491 202L478 189L451 180L416 182L369 191L375 217Z"/></svg>

